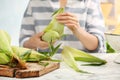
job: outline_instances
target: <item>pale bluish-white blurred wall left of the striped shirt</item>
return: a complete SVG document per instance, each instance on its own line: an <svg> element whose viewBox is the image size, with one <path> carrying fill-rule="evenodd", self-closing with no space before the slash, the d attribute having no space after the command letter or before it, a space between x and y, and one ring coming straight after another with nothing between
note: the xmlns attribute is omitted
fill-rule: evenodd
<svg viewBox="0 0 120 80"><path fill-rule="evenodd" d="M12 45L19 45L21 20L29 0L0 0L0 29L6 30Z"/></svg>

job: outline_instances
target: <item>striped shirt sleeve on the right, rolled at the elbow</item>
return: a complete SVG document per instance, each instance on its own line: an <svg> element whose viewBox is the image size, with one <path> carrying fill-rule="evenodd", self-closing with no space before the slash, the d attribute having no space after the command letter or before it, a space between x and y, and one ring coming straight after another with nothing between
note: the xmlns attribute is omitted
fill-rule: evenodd
<svg viewBox="0 0 120 80"><path fill-rule="evenodd" d="M87 31L90 34L95 35L99 40L99 46L96 50L91 51L95 53L105 53L105 24L102 16L99 0L88 0L88 17L87 17ZM92 6L92 7L91 7Z"/></svg>

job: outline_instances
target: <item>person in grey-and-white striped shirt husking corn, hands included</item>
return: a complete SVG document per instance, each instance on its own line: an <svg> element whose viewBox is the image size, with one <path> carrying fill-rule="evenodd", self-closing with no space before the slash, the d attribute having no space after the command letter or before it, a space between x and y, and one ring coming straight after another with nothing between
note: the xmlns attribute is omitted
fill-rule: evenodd
<svg viewBox="0 0 120 80"><path fill-rule="evenodd" d="M59 8L59 1L30 0L21 26L20 46L43 51L48 48L48 43L40 37L52 13ZM56 19L65 25L66 36L61 40L62 46L68 45L90 53L106 51L105 25L99 0L67 0L65 12Z"/></svg>

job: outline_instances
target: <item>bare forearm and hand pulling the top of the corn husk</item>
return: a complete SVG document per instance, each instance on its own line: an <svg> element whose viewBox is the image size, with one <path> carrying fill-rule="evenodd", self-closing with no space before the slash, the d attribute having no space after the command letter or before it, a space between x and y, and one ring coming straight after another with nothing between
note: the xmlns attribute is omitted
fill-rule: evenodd
<svg viewBox="0 0 120 80"><path fill-rule="evenodd" d="M79 20L72 13L62 13L56 17L58 22L66 25L79 41L88 50L95 50L98 47L98 38L80 27Z"/></svg>

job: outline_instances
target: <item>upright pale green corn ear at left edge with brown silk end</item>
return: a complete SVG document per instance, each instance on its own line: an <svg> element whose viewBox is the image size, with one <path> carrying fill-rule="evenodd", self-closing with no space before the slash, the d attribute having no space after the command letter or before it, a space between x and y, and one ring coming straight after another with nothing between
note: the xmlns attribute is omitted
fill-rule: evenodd
<svg viewBox="0 0 120 80"><path fill-rule="evenodd" d="M20 60L19 57L13 53L10 35L4 30L0 30L0 53L4 53L4 56L8 56L9 59L5 57L9 60L6 62L6 64L8 63L7 65L12 67L15 63L15 65L19 65L18 67L20 68L26 68L25 62Z"/></svg>

